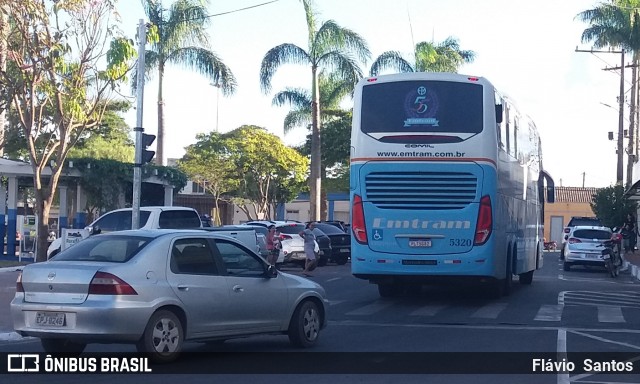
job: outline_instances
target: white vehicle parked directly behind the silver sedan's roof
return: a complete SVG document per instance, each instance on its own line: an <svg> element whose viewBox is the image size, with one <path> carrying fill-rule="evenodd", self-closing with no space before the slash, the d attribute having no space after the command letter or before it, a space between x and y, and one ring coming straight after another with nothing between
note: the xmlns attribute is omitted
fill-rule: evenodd
<svg viewBox="0 0 640 384"><path fill-rule="evenodd" d="M89 234L96 228L101 233L124 231L131 229L132 208L110 211L100 216L93 223L85 227ZM140 229L158 228L202 228L202 221L198 212L193 208L174 206L140 207ZM62 237L52 241L47 249L47 257L53 257L62 248Z"/></svg>

